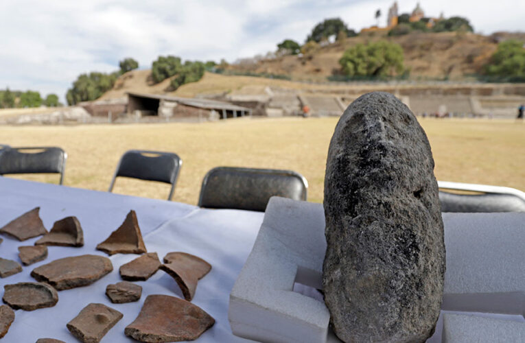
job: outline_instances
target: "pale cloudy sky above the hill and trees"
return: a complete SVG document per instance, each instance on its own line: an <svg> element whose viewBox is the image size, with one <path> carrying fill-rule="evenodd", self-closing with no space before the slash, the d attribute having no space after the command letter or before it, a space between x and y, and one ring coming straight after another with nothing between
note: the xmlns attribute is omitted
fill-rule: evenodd
<svg viewBox="0 0 525 343"><path fill-rule="evenodd" d="M523 0L419 1L426 16L467 17L476 33L525 31ZM304 43L323 19L339 17L359 31L380 25L388 0L0 0L0 89L57 94L78 75L119 69L135 58L149 69L158 56L229 62ZM397 1L399 13L417 1Z"/></svg>

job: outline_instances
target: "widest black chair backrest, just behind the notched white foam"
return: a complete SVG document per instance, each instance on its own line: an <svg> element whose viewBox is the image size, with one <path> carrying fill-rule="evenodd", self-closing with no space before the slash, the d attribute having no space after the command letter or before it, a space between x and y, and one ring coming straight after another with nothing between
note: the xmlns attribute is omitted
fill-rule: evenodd
<svg viewBox="0 0 525 343"><path fill-rule="evenodd" d="M295 171L216 167L202 180L198 206L264 212L272 196L306 200L307 188Z"/></svg>

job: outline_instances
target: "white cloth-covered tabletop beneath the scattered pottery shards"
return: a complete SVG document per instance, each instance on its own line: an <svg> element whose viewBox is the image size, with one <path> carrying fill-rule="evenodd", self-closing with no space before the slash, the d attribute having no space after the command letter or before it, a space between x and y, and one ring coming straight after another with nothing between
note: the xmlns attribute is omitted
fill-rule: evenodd
<svg viewBox="0 0 525 343"><path fill-rule="evenodd" d="M152 200L113 193L74 189L58 185L0 177L0 227L25 211L40 206L40 217L49 230L56 220L69 215L78 217L84 230L84 247L69 248L49 246L49 256L44 261L23 267L23 272L0 279L3 285L34 282L30 272L45 263L62 257L95 254L95 250L126 217L130 209L137 212L139 226L148 252L157 252L162 259L167 252L183 251L205 259L212 270L199 281L191 303L207 311L215 324L198 342L248 342L231 333L227 318L229 293L244 261L253 247L264 213L237 210L209 210L196 206ZM18 247L34 244L38 239L17 241L2 236L0 257L19 261ZM101 342L135 342L124 335L150 294L166 294L183 298L174 279L159 270L148 281L138 281L143 287L141 299L136 303L113 304L105 295L106 286L121 281L119 267L139 255L113 255L113 272L86 287L58 292L54 307L35 311L15 311L15 320L3 342L36 342L38 338L55 338L76 342L66 328L66 323L89 303L103 303L117 309L122 318Z"/></svg>

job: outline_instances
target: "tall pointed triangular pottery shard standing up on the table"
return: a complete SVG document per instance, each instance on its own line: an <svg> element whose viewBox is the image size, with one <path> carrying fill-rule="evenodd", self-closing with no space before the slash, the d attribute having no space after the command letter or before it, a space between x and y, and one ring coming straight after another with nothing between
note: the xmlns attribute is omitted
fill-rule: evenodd
<svg viewBox="0 0 525 343"><path fill-rule="evenodd" d="M147 252L135 211L131 210L124 223L113 231L105 241L98 244L97 249L106 252L108 255Z"/></svg>

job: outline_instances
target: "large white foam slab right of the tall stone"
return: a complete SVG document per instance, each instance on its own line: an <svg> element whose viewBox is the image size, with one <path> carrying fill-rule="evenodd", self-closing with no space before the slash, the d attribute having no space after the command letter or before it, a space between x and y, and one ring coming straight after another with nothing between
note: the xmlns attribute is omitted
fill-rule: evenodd
<svg viewBox="0 0 525 343"><path fill-rule="evenodd" d="M442 308L524 314L525 213L443 213Z"/></svg>

